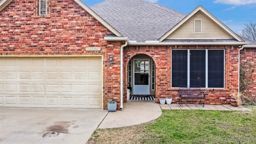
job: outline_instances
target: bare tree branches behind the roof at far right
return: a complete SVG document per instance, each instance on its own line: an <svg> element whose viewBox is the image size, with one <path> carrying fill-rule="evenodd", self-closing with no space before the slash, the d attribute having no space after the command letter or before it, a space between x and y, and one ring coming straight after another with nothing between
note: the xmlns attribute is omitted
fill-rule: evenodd
<svg viewBox="0 0 256 144"><path fill-rule="evenodd" d="M249 24L244 24L244 28L239 34L250 40L256 41L256 23L250 21Z"/></svg>

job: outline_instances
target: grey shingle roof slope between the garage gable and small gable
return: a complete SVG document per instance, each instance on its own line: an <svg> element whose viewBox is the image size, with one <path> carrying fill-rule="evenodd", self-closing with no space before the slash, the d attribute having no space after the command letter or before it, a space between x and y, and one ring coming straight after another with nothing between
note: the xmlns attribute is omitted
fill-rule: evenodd
<svg viewBox="0 0 256 144"><path fill-rule="evenodd" d="M186 16L143 0L106 0L90 8L124 37L137 42L158 40Z"/></svg>

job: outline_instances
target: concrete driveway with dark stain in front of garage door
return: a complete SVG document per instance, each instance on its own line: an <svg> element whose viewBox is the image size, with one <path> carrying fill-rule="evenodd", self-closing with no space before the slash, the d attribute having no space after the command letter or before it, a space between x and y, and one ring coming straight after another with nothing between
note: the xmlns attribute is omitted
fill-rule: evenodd
<svg viewBox="0 0 256 144"><path fill-rule="evenodd" d="M0 108L1 144L85 144L107 110Z"/></svg>

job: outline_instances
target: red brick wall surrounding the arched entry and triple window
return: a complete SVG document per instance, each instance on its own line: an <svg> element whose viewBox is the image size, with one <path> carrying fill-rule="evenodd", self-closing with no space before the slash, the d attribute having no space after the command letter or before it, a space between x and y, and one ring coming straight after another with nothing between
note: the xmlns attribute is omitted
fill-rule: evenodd
<svg viewBox="0 0 256 144"><path fill-rule="evenodd" d="M168 96L177 102L178 88L171 88L171 49L225 49L225 88L203 90L206 104L229 104L230 94L238 91L238 46L127 46L124 48L124 81L127 81L129 60L136 54L147 54L156 63L156 102ZM124 87L127 87L126 83Z"/></svg>

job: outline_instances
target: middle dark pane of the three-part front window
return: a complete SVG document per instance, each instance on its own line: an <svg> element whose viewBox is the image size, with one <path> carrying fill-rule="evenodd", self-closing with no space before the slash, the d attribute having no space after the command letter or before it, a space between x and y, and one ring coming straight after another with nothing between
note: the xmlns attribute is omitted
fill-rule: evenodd
<svg viewBox="0 0 256 144"><path fill-rule="evenodd" d="M190 50L190 86L205 88L205 50Z"/></svg>

